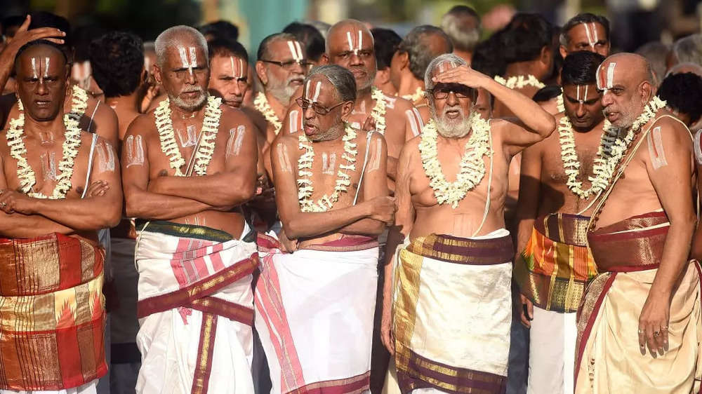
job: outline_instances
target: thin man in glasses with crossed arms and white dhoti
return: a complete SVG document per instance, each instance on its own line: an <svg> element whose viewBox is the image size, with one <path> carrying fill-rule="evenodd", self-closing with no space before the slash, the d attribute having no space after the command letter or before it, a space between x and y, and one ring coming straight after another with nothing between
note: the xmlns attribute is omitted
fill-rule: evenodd
<svg viewBox="0 0 702 394"><path fill-rule="evenodd" d="M305 128L271 153L280 219L292 247L259 236L256 330L271 393L369 389L378 234L392 224L385 141L352 128L356 83L336 65L312 69L297 104Z"/></svg>

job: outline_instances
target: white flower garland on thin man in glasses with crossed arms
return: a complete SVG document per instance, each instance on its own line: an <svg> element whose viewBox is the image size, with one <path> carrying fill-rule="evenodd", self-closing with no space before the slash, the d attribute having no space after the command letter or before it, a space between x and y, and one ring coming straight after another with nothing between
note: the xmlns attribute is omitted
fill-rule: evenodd
<svg viewBox="0 0 702 394"><path fill-rule="evenodd" d="M344 153L341 155L347 164L340 164L337 172L336 185L331 196L324 194L316 202L312 201L312 193L314 186L312 185L312 163L314 162L314 147L312 141L307 138L305 133L300 133L298 137L298 147L305 149L305 152L298 158L298 200L300 201L300 210L303 212L326 212L331 210L333 205L339 200L341 193L346 193L348 187L351 186L351 176L349 171L356 170L356 155L358 154L357 144L353 142L356 139L356 132L350 123L346 123L345 135L343 136Z"/></svg>

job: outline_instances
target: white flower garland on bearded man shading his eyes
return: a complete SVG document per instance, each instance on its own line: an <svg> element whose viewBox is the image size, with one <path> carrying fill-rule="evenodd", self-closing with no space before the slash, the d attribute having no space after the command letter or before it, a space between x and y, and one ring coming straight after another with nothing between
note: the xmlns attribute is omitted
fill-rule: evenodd
<svg viewBox="0 0 702 394"><path fill-rule="evenodd" d="M482 157L493 154L489 146L490 125L476 112L470 118L470 128L472 134L465 144L465 153L460 163L461 169L453 183L446 181L439 162L438 131L435 121L432 119L422 129L419 143L422 165L439 205L449 203L451 208L458 207L458 203L465 198L468 191L475 188L485 176L485 162Z"/></svg>

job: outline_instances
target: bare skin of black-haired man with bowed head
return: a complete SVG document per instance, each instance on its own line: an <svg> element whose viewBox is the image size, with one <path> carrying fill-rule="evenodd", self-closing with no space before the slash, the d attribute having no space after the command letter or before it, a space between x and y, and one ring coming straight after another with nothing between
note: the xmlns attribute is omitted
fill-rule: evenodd
<svg viewBox="0 0 702 394"><path fill-rule="evenodd" d="M587 88L587 95L585 95ZM604 133L604 115L600 93L595 83L588 85L563 86L565 108L556 121L560 125L562 116L568 116L573 125L575 150L580 163L578 181L584 190L592 186L593 165ZM579 98L578 98L579 97ZM561 137L555 132L522 152L519 173L519 204L517 205L517 254L521 253L531 237L531 231L537 217L555 212L590 215L592 197L581 199L567 186L567 175L563 168ZM519 256L515 257L515 261ZM534 318L534 306L531 301L520 294L522 304L527 305L527 314L520 308L522 324L531 326Z"/></svg>

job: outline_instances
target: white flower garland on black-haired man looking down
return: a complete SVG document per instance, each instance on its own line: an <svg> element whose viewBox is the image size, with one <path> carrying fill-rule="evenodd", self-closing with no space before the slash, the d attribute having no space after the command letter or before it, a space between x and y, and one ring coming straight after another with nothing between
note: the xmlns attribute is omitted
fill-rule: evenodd
<svg viewBox="0 0 702 394"><path fill-rule="evenodd" d="M594 164L592 165L592 173L594 176L588 177L592 185L590 189L583 189L583 182L578 181L580 177L580 166L581 163L578 160L578 153L575 150L575 137L573 133L573 125L567 115L562 116L560 124L558 126L559 143L561 145L561 160L563 161L563 169L565 170L568 180L566 185L568 189L575 193L578 197L583 200L590 198L592 194L600 193L604 186L607 186L607 182L611 178L611 172L609 172L608 161L611 158L608 156L611 154L611 145L616 140L616 134L614 136L610 135L607 130L610 130L611 124L609 121L604 121L604 133L602 133L602 139L600 140L600 147L597 149L597 156L595 156Z"/></svg>

